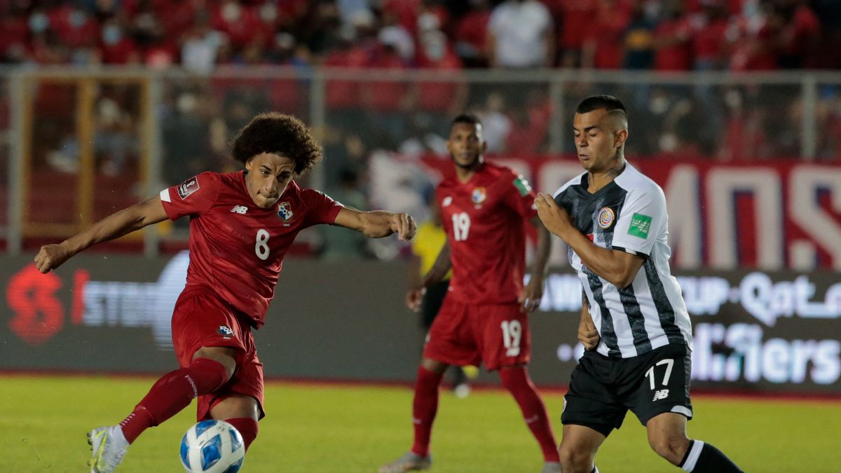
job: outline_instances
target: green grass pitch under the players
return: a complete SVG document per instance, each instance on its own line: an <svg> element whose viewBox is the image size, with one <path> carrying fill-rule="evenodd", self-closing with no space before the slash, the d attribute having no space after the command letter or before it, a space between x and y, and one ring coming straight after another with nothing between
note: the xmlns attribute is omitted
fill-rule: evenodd
<svg viewBox="0 0 841 473"><path fill-rule="evenodd" d="M87 471L88 429L119 422L153 380L77 376L0 377L0 471ZM411 443L405 387L270 383L268 415L243 470L372 472ZM560 393L544 393L558 439ZM767 401L696 396L690 437L707 440L744 470L841 471L841 401ZM178 445L194 407L144 433L119 471L181 471ZM433 472L537 472L542 458L515 402L503 391L459 400L442 392L432 435ZM603 473L680 471L648 449L629 416L600 449Z"/></svg>

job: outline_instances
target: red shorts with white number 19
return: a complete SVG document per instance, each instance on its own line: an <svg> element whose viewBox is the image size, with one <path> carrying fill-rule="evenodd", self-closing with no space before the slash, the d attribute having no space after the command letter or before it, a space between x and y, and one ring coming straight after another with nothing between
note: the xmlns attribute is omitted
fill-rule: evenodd
<svg viewBox="0 0 841 473"><path fill-rule="evenodd" d="M463 304L447 295L426 337L424 358L487 369L528 364L532 336L520 304Z"/></svg>

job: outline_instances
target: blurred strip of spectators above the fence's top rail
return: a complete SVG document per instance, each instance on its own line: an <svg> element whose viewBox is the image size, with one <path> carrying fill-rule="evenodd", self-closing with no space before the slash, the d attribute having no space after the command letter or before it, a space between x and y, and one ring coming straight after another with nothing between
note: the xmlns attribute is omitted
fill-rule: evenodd
<svg viewBox="0 0 841 473"><path fill-rule="evenodd" d="M2 0L0 61L837 68L833 0ZM527 25L527 26L524 26Z"/></svg>

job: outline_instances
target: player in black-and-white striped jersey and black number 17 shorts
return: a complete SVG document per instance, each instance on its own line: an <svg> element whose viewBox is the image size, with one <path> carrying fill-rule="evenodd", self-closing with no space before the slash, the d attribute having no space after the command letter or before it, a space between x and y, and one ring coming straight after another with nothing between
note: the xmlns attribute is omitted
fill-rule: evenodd
<svg viewBox="0 0 841 473"><path fill-rule="evenodd" d="M538 194L543 224L569 245L584 287L579 359L564 398L564 473L588 473L630 409L664 459L696 473L741 471L711 444L691 440L689 314L669 270L663 189L625 160L627 114L609 95L584 99L573 130L585 172Z"/></svg>

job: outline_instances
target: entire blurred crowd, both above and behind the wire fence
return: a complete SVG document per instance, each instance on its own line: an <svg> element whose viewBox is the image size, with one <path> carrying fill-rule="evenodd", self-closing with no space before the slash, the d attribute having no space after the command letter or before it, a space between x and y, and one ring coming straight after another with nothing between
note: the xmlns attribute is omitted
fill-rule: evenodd
<svg viewBox="0 0 841 473"><path fill-rule="evenodd" d="M173 184L234 170L230 137L272 109L316 127L319 185L368 207L378 157L446 156L455 114L479 114L491 155L557 155L574 151L557 128L593 93L627 104L632 159L841 162L841 78L801 75L841 69L837 0L0 0L0 181L13 99L3 72L101 65L159 86L149 109L148 83L97 79L91 141L104 189L137 181L144 114L159 127L161 181ZM55 186L84 154L82 82L60 79L28 84L29 156ZM103 212L122 204L108 202ZM72 214L44 204L55 209L45 221Z"/></svg>

